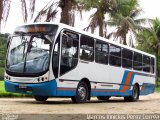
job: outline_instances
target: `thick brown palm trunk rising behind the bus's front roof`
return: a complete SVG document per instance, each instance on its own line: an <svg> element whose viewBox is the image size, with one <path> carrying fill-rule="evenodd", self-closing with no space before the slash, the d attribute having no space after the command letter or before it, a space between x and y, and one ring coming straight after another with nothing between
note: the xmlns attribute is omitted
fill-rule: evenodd
<svg viewBox="0 0 160 120"><path fill-rule="evenodd" d="M72 0L61 0L61 19L60 22L71 25Z"/></svg>

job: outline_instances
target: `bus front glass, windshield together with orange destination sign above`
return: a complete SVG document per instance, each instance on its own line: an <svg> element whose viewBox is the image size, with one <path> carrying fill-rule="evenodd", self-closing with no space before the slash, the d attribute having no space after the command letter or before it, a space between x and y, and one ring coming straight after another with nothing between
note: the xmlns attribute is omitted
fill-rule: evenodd
<svg viewBox="0 0 160 120"><path fill-rule="evenodd" d="M57 25L48 24L17 27L9 41L6 72L16 76L47 72L57 29Z"/></svg>

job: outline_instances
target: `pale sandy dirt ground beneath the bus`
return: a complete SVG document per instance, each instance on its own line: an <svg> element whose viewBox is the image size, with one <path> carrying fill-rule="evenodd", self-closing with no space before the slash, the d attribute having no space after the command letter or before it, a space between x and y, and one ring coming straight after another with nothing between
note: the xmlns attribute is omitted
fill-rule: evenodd
<svg viewBox="0 0 160 120"><path fill-rule="evenodd" d="M160 93L141 96L138 102L112 97L85 104L73 104L69 98L49 98L36 102L32 98L0 98L0 114L160 114Z"/></svg>

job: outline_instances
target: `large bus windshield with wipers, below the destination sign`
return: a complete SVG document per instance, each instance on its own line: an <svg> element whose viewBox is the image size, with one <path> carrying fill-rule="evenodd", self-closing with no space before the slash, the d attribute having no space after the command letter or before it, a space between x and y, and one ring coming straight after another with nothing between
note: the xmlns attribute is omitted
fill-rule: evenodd
<svg viewBox="0 0 160 120"><path fill-rule="evenodd" d="M8 51L6 68L14 73L41 73L49 66L49 35L14 36Z"/></svg>

